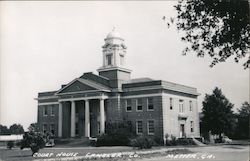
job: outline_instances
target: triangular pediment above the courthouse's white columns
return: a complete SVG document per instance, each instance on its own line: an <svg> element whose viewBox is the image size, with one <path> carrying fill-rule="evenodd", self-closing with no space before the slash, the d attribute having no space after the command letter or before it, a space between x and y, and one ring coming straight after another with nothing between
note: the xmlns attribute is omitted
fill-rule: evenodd
<svg viewBox="0 0 250 161"><path fill-rule="evenodd" d="M98 90L97 88L94 88L92 86L89 86L87 84L84 84L80 82L79 80L75 80L73 83L68 84L64 88L62 88L58 94L62 93L72 93L72 92L82 92L82 91L93 91Z"/></svg>

